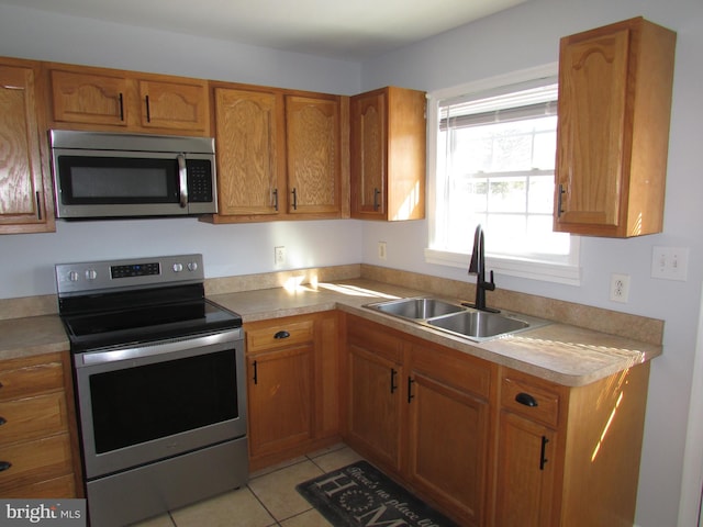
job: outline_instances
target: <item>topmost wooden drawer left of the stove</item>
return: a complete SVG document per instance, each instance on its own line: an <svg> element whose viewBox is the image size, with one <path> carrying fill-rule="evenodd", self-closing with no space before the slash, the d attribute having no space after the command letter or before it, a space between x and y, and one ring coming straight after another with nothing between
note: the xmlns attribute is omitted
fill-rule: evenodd
<svg viewBox="0 0 703 527"><path fill-rule="evenodd" d="M25 397L64 386L64 367L58 355L0 365L0 401Z"/></svg>

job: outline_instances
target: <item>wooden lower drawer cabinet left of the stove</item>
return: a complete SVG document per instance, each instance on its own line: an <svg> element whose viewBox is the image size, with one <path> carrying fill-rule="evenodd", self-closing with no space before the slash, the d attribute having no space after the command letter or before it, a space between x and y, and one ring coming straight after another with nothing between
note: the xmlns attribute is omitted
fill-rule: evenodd
<svg viewBox="0 0 703 527"><path fill-rule="evenodd" d="M0 361L0 497L82 495L68 361Z"/></svg>

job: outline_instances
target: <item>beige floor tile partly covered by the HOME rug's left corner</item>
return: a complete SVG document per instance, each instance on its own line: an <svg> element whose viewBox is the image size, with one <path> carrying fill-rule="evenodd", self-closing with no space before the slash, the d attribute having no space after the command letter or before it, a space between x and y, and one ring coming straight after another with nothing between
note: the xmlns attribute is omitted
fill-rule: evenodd
<svg viewBox="0 0 703 527"><path fill-rule="evenodd" d="M276 519L283 520L312 508L312 505L298 494L295 485L321 474L323 471L306 460L249 480L249 487Z"/></svg>

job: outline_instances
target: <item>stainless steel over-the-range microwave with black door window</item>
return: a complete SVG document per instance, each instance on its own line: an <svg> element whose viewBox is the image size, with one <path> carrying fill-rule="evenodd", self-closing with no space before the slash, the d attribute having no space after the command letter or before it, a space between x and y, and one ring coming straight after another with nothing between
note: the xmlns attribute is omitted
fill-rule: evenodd
<svg viewBox="0 0 703 527"><path fill-rule="evenodd" d="M56 217L217 212L214 139L49 131Z"/></svg>

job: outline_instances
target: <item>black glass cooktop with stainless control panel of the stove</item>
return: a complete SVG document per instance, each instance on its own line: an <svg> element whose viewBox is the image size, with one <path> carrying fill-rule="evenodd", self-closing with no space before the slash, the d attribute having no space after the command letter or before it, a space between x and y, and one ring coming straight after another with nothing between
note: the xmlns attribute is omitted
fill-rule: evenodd
<svg viewBox="0 0 703 527"><path fill-rule="evenodd" d="M56 266L59 313L74 352L242 326L204 298L202 257Z"/></svg>

